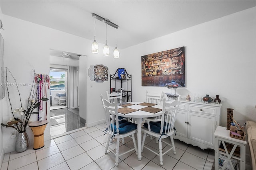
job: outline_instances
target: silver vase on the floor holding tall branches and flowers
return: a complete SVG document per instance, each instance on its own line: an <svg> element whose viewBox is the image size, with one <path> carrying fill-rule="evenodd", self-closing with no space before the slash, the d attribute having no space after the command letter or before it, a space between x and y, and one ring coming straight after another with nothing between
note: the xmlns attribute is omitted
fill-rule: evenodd
<svg viewBox="0 0 256 170"><path fill-rule="evenodd" d="M29 147L28 134L25 132L18 133L16 137L15 150L16 152L24 152Z"/></svg>

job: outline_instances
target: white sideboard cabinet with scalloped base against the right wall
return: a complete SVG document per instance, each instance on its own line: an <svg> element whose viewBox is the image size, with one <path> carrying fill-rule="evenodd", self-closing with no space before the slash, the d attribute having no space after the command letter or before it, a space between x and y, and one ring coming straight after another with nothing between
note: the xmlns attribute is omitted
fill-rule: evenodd
<svg viewBox="0 0 256 170"><path fill-rule="evenodd" d="M222 104L180 101L175 121L176 135L187 144L214 149L214 132L220 125Z"/></svg>

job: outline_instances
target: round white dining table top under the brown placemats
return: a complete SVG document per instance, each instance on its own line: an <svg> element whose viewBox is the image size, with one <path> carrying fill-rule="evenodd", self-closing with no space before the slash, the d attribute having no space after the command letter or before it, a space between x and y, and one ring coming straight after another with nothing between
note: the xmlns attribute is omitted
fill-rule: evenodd
<svg viewBox="0 0 256 170"><path fill-rule="evenodd" d="M131 109L142 109L144 107L147 107L147 106L140 106L138 104L140 103L144 103L144 102L127 102L127 103L130 103L130 104L134 104L132 106L127 106L128 108L131 108ZM162 106L161 105L155 105L155 106L152 106L154 108L158 108L158 109L162 109ZM122 108L122 106L118 106L118 109L119 108ZM145 118L145 117L155 117L155 116L158 116L158 115L161 115L162 114L162 111L159 111L157 113L150 113L150 112L147 112L147 111L142 111L142 110L138 110L138 111L134 111L132 113L127 113L127 114L122 114L122 113L118 113L118 116L122 116L122 117L132 117L132 118Z"/></svg>

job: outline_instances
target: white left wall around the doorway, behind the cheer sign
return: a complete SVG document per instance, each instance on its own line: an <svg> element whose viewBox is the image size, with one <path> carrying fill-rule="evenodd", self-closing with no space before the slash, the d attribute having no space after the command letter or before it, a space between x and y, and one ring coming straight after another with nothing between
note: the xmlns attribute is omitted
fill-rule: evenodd
<svg viewBox="0 0 256 170"><path fill-rule="evenodd" d="M109 57L103 57L102 51L96 55L92 54L90 52L91 40L6 15L2 15L1 19L4 23L2 35L4 37L5 66L12 71L17 82L31 82L33 70L35 70L36 73L48 74L50 67L49 49L58 49L85 55L84 58L86 59L82 61L85 61L83 66L86 71L91 64L104 64L108 66L108 68L114 67L113 70L116 70L119 65L118 63L122 61L122 59L120 59L114 62L113 56L111 55ZM68 41L66 41L67 39ZM103 49L103 46L103 44L99 44L100 49ZM110 50L114 50L114 47L110 47ZM97 121L104 120L103 108L99 105L100 94L105 94L106 90L109 90L110 83L92 82L87 73L84 74L84 78L85 82L92 84L92 89L90 88L88 90L87 86L83 89L84 93L87 94L84 98L84 102L86 102L88 107L85 107L85 104L80 104L80 109L84 111L84 115L81 117L85 117L87 125L90 126L93 123L97 123ZM21 87L20 93L22 101L25 102L29 89ZM10 92L10 94L12 94L12 96L18 95L16 91ZM19 100L15 99L12 105L14 108L19 107ZM1 123L2 121L5 123L9 117L11 117L10 104L6 97L1 100L1 106ZM48 106L50 106L49 101ZM49 107L48 113L50 113ZM47 116L48 120L50 119L49 115L50 114ZM3 145L1 144L3 146L3 149L0 150L1 153L14 150L15 139L10 139L10 131L12 129L1 127L1 130L3 131L1 138L3 137L3 139L5 139ZM30 128L27 128L27 133L31 144L33 144L33 134ZM50 139L49 124L45 129L44 138Z"/></svg>

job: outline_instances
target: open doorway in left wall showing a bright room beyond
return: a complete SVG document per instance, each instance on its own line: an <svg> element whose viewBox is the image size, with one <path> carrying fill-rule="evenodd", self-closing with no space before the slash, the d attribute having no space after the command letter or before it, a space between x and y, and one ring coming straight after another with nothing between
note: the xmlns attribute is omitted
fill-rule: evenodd
<svg viewBox="0 0 256 170"><path fill-rule="evenodd" d="M51 136L85 127L80 121L80 55L50 49L50 133Z"/></svg>

